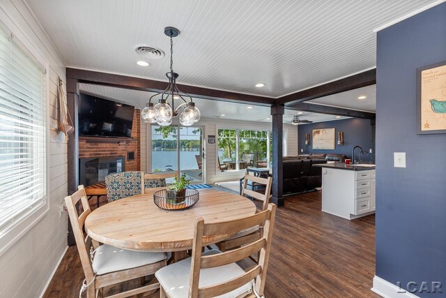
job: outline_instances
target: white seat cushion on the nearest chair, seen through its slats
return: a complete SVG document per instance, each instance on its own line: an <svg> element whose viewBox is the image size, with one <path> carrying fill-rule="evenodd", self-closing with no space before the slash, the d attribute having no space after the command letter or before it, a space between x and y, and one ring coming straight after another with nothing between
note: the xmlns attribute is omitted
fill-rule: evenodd
<svg viewBox="0 0 446 298"><path fill-rule="evenodd" d="M215 255L217 253L222 252L218 249L212 249L210 251L202 253L202 255ZM187 297L189 292L190 261L191 258L187 258L156 271L155 276L158 281L160 281L162 288L164 288L169 297ZM241 269L240 266L238 266L236 263L224 265L221 267L201 269L199 288L203 288L208 285L215 285L217 283L224 283L225 281L229 281L244 273L245 271ZM236 290L218 297L238 297L239 295L250 292L252 290L252 285L253 282L250 281L246 285L243 285Z"/></svg>

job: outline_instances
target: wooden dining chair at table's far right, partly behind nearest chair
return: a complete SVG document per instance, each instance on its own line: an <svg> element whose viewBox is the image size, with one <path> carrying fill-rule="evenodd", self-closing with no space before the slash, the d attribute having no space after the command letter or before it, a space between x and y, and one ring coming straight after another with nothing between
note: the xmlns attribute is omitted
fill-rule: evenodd
<svg viewBox="0 0 446 298"><path fill-rule="evenodd" d="M248 189L247 187L249 181L252 181L253 186L254 183L258 185L259 184L264 185L265 191L263 193L259 193L257 191L252 191ZM268 208L268 204L270 203L271 184L272 184L272 177L268 178L256 177L246 172L245 178L243 179L242 195L243 196L249 195L249 197L251 198L263 201L261 210L264 211ZM228 239L225 239L224 241L220 241L216 245L218 249L220 249L220 251L226 251L231 248L237 248L249 241L259 239L260 233L261 233L260 227L254 226L246 230L241 230L237 234L234 234L233 236L229 237Z"/></svg>

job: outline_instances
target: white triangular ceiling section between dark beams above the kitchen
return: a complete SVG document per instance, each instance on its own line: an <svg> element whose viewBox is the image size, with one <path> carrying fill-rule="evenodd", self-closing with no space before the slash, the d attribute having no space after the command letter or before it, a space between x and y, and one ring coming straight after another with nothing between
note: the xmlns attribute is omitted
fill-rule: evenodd
<svg viewBox="0 0 446 298"><path fill-rule="evenodd" d="M360 96L366 96L366 98L358 99ZM376 112L376 85L324 96L309 100L307 103L330 105L332 107L345 107L346 109L365 112Z"/></svg>

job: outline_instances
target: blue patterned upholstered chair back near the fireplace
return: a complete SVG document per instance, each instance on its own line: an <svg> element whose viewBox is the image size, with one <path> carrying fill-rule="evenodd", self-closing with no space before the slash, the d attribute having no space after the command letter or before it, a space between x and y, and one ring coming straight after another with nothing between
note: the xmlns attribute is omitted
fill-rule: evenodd
<svg viewBox="0 0 446 298"><path fill-rule="evenodd" d="M107 188L107 200L109 202L141 195L141 172L122 172L109 174L105 177L105 187Z"/></svg>

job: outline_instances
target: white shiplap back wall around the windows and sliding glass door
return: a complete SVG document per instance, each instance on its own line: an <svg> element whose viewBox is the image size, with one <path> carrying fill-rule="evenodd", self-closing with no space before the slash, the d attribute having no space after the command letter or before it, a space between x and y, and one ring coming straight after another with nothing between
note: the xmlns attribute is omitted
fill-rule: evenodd
<svg viewBox="0 0 446 298"><path fill-rule="evenodd" d="M173 124L176 123L174 119ZM144 124L142 124L144 126ZM217 140L215 144L208 144L208 135L217 136L217 130L219 128L243 128L252 130L270 131L272 126L270 123L263 123L258 121L236 121L230 119L217 119L217 118L202 118L197 126L204 126L205 136L205 148L206 148L206 183L212 184L223 181L235 181L243 176L245 170L240 171L224 171L219 172L217 170ZM146 140L141 140L141 169L142 160L146 159L146 167L150 169L151 161L151 129L150 125L146 124ZM284 126L284 134L286 133L286 154L297 155L298 154L298 128L292 125ZM143 130L141 129L141 135ZM143 157L144 155L144 157Z"/></svg>

